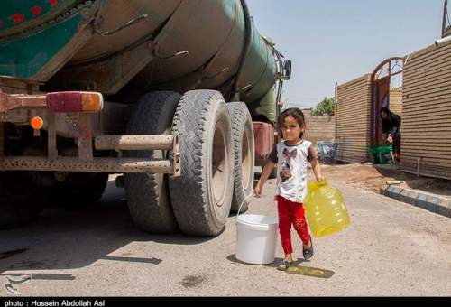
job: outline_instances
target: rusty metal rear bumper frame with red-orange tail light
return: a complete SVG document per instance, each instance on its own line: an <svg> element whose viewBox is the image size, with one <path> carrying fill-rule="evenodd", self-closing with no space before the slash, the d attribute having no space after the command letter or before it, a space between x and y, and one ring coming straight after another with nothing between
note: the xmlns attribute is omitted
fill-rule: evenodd
<svg viewBox="0 0 451 307"><path fill-rule="evenodd" d="M17 109L45 109L47 157L8 156L4 152L4 123L0 121L0 172L109 172L168 173L180 175L179 135L97 135L92 134L91 113L100 112L103 97L99 93L62 92L46 95L9 95L0 92L0 113ZM78 156L60 156L57 148L56 114L77 112ZM83 133L81 133L83 132ZM116 158L94 157L94 149L115 151ZM123 158L123 151L170 151L170 159Z"/></svg>

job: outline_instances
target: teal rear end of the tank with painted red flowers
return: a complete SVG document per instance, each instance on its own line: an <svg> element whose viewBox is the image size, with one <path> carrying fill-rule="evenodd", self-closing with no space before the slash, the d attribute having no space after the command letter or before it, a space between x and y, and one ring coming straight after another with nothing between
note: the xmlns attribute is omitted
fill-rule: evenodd
<svg viewBox="0 0 451 307"><path fill-rule="evenodd" d="M57 54L77 36L81 16L76 3L73 1L75 10L70 11L68 2L41 0L31 5L24 0L2 1L0 75L36 79L42 67L55 61ZM64 17L57 22L60 15Z"/></svg>

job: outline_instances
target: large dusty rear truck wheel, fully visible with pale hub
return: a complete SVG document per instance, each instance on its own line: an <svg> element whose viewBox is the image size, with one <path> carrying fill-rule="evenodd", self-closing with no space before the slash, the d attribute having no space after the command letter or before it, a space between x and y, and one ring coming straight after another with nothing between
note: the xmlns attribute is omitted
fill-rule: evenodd
<svg viewBox="0 0 451 307"><path fill-rule="evenodd" d="M181 176L170 178L170 200L179 228L216 236L226 227L234 192L232 123L222 95L185 93L173 130L180 136Z"/></svg>

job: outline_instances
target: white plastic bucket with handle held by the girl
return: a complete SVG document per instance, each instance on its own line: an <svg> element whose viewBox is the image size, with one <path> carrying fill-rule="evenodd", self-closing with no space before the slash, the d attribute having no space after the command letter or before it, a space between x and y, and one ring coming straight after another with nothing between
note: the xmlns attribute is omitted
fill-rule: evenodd
<svg viewBox="0 0 451 307"><path fill-rule="evenodd" d="M240 210L236 218L236 259L253 265L272 264L276 251L278 220L239 213Z"/></svg>

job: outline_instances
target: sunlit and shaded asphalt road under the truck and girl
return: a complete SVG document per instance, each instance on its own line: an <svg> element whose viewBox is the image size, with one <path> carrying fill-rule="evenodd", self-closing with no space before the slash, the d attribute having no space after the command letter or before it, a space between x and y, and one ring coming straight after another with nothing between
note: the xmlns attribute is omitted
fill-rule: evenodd
<svg viewBox="0 0 451 307"><path fill-rule="evenodd" d="M110 181L99 204L45 209L26 227L0 231L0 296L451 295L451 219L331 184L344 193L351 226L314 238L314 258L296 263L296 272L323 277L237 261L235 217L215 238L143 233ZM277 215L273 188L269 181L250 212ZM294 232L293 242L301 257Z"/></svg>

